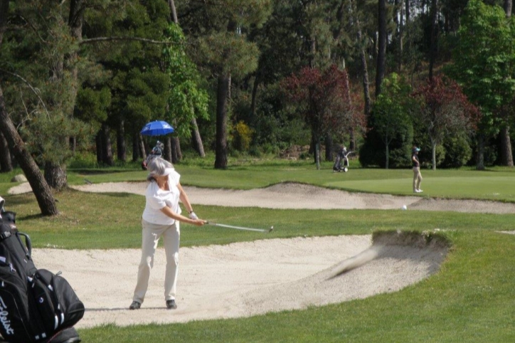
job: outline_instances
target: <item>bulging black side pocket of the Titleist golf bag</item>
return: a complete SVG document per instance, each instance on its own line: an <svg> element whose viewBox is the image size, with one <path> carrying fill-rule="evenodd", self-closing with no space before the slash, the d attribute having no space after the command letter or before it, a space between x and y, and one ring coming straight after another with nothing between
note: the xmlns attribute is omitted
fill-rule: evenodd
<svg viewBox="0 0 515 343"><path fill-rule="evenodd" d="M32 280L32 295L49 332L75 325L84 315L84 304L60 273L38 269Z"/></svg>

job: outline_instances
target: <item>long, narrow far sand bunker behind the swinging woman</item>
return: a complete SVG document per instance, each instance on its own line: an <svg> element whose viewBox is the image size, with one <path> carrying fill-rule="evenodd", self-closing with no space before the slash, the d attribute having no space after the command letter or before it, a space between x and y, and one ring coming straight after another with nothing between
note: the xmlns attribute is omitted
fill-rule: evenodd
<svg viewBox="0 0 515 343"><path fill-rule="evenodd" d="M95 193L124 192L144 195L147 182L107 182L72 186ZM409 209L420 211L455 211L476 213L515 213L515 203L478 200L433 199L420 196L393 196L325 189L308 184L284 183L241 191L184 186L192 204L225 207L262 207L267 209ZM25 182L9 189L9 194L31 192Z"/></svg>

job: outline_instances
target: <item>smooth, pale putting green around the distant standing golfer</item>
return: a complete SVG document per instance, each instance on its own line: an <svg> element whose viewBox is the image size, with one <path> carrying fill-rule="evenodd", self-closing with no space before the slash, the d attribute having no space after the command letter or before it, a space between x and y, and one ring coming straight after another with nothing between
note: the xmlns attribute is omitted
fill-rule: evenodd
<svg viewBox="0 0 515 343"><path fill-rule="evenodd" d="M489 177L424 177L420 186L423 196L477 198L497 201L515 201L515 178L513 176ZM413 194L412 179L384 179L329 182L326 186L389 194Z"/></svg>

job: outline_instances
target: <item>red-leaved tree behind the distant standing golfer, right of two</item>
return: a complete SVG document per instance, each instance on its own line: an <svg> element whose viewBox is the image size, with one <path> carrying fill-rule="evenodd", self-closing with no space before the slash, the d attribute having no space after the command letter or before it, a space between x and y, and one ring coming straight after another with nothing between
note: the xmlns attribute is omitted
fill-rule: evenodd
<svg viewBox="0 0 515 343"><path fill-rule="evenodd" d="M472 105L460 85L450 78L434 76L421 85L415 93L420 107L415 113L431 142L432 169L436 169L436 146L446 135L457 132L472 133L481 117L479 109Z"/></svg>

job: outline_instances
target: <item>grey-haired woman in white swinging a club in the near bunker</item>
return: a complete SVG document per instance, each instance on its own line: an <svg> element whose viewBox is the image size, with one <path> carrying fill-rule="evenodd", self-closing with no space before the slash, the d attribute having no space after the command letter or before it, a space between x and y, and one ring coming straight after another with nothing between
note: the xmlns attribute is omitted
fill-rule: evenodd
<svg viewBox="0 0 515 343"><path fill-rule="evenodd" d="M175 292L179 271L179 221L202 226L206 223L198 219L191 208L188 196L179 183L181 177L172 164L161 157L149 162L149 175L145 197L147 203L142 216L142 260L139 263L138 279L130 310L137 310L149 285L150 270L154 265L154 253L161 236L166 253L166 275L164 277L164 300L166 308L176 309ZM189 218L181 216L179 200L189 212Z"/></svg>

